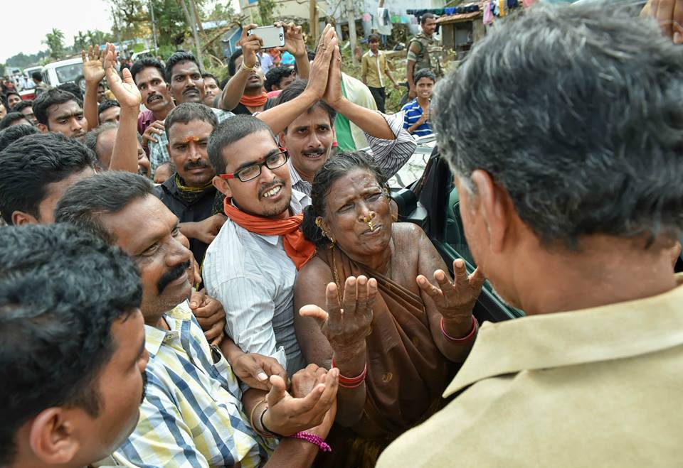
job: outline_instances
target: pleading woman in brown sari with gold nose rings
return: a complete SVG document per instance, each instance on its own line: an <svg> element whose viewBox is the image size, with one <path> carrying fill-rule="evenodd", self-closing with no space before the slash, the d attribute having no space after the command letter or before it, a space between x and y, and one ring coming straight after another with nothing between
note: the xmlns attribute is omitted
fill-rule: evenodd
<svg viewBox="0 0 683 468"><path fill-rule="evenodd" d="M349 428L319 462L374 466L440 407L474 342L484 278L457 260L451 283L423 230L393 222L386 179L362 153L319 170L302 230L317 252L295 284L297 338L309 363L339 368L336 421Z"/></svg>

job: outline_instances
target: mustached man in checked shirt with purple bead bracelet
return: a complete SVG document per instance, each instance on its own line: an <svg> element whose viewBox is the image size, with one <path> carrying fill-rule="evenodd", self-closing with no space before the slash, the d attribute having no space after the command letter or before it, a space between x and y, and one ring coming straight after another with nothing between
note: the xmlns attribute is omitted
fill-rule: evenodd
<svg viewBox="0 0 683 468"><path fill-rule="evenodd" d="M287 376L273 359L238 352L228 364L221 350L235 354L224 343L221 350L210 347L187 302L191 254L178 218L152 189L139 175L109 171L70 187L55 212L58 222L119 246L142 280L147 398L137 428L103 464L253 467L268 460L276 467L309 466L318 446L307 440L322 444L334 420L337 369L309 366L292 376L288 393ZM238 361L249 356L263 366L263 379L270 374L268 393L240 388L238 376L248 385L258 379L240 370Z"/></svg>

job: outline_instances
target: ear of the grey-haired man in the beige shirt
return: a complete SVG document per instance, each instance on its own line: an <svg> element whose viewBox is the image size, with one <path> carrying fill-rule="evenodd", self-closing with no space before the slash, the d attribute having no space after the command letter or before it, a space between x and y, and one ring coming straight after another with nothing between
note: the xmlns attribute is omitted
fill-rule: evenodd
<svg viewBox="0 0 683 468"><path fill-rule="evenodd" d="M502 251L505 241L511 234L512 222L517 214L512 200L503 187L500 187L485 170L475 170L471 176L479 198L480 216L486 223L489 246L494 254Z"/></svg>

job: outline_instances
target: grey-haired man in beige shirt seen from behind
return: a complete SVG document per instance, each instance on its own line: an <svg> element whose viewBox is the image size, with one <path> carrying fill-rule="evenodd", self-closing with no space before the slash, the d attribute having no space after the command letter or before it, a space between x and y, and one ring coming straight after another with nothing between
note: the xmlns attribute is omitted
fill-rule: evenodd
<svg viewBox="0 0 683 468"><path fill-rule="evenodd" d="M683 48L605 3L501 21L437 89L472 255L528 317L482 325L378 467L683 459Z"/></svg>

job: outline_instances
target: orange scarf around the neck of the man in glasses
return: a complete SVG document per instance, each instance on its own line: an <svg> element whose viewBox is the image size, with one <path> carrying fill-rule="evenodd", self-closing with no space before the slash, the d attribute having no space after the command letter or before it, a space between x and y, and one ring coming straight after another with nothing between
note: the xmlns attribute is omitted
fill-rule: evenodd
<svg viewBox="0 0 683 468"><path fill-rule="evenodd" d="M297 270L315 254L315 246L306 240L304 233L299 229L304 220L303 214L296 214L287 219L254 216L233 206L232 200L228 197L223 202L223 209L225 209L228 218L249 232L262 236L282 236L285 254L292 259Z"/></svg>

